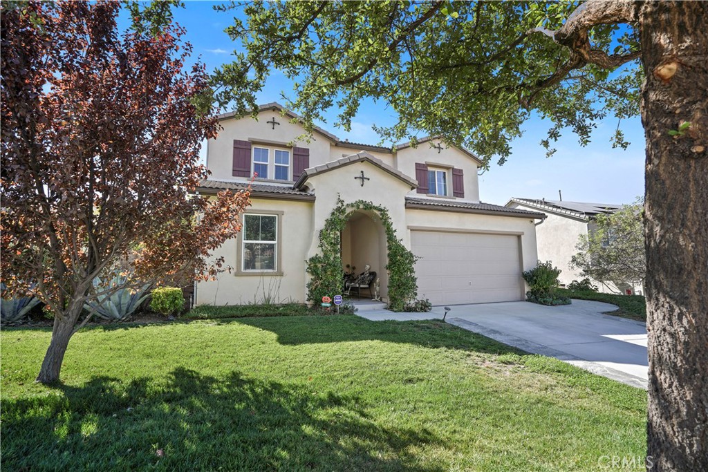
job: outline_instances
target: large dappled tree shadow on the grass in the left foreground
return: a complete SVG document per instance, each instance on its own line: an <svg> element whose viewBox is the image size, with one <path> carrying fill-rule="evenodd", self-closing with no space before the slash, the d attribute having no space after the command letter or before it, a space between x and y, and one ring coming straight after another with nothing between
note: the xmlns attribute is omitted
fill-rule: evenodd
<svg viewBox="0 0 708 472"><path fill-rule="evenodd" d="M385 427L358 398L178 368L166 382L96 377L3 402L6 470L433 471L428 430Z"/></svg>

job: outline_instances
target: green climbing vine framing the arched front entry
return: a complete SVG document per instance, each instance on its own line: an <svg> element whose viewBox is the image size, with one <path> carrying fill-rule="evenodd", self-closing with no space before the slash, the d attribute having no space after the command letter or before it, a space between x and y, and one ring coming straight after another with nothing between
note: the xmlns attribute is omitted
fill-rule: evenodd
<svg viewBox="0 0 708 472"><path fill-rule="evenodd" d="M416 255L406 249L401 239L396 236L388 210L365 200L345 204L341 197L337 197L337 204L319 232L320 253L307 260L307 273L310 275L310 281L307 282L307 299L319 304L325 295L331 297L341 292L344 275L341 232L350 214L356 210L376 212L381 219L388 246L386 270L389 271L389 309L403 311L406 302L415 299L418 294L418 280L413 267Z"/></svg>

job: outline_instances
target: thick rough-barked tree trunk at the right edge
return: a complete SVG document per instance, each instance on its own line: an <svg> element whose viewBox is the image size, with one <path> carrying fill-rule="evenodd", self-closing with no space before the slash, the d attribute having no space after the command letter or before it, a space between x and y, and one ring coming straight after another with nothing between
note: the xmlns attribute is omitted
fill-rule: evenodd
<svg viewBox="0 0 708 472"><path fill-rule="evenodd" d="M708 471L707 18L698 1L639 11L651 471Z"/></svg>

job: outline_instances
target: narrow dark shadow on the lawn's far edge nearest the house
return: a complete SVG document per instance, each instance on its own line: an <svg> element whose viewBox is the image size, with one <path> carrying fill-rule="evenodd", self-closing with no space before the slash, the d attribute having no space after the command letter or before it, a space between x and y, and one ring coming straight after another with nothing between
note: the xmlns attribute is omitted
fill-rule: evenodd
<svg viewBox="0 0 708 472"><path fill-rule="evenodd" d="M487 354L527 355L527 352L515 347L439 320L369 321L358 316L320 316L312 317L310 322L303 321L302 317L239 318L213 322L217 325L241 323L268 330L278 335L278 343L283 345L379 340Z"/></svg>

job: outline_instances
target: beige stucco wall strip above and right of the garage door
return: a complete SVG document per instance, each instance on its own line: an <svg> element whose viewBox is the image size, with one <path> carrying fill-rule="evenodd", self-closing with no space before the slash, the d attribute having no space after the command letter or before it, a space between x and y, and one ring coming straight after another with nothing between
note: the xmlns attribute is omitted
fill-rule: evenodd
<svg viewBox="0 0 708 472"><path fill-rule="evenodd" d="M523 233L521 238L521 258L523 270L536 266L536 226L530 218L500 217L488 214L440 212L425 209L406 210L406 221L410 230L416 228L462 229L499 234ZM409 246L410 247L410 246Z"/></svg>

